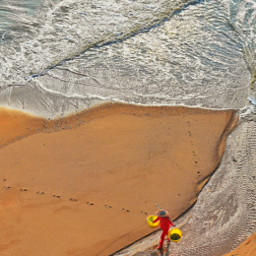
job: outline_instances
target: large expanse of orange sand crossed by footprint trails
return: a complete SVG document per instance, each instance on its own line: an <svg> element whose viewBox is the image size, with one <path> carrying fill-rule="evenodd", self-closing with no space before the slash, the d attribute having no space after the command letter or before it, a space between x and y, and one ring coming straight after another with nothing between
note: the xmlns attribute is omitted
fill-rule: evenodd
<svg viewBox="0 0 256 256"><path fill-rule="evenodd" d="M0 118L0 253L15 256L109 255L153 231L155 203L177 218L235 125L232 110L119 103Z"/></svg>

